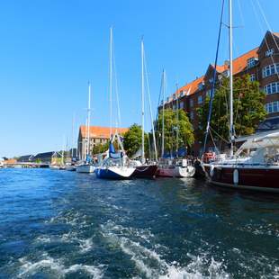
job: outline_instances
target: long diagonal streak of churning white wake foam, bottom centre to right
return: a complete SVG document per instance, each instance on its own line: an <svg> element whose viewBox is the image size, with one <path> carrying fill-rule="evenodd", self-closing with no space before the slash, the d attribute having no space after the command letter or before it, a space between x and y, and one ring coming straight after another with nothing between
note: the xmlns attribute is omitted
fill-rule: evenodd
<svg viewBox="0 0 279 279"><path fill-rule="evenodd" d="M179 266L176 262L168 264L156 251L157 247L161 247L160 245L154 244L152 248L143 247L139 242L122 236L121 231L127 231L127 228L121 227L120 229L120 227L120 225L114 224L112 220L108 221L108 223L101 226L103 237L114 245L121 247L123 253L129 255L130 260L135 263L139 273L147 278L229 278L229 275L225 272L226 266L206 254L200 257L187 255L190 258L190 263L187 266ZM130 231L135 232L134 230L130 229ZM134 233L132 236L135 237L137 234ZM151 233L150 236L153 237Z"/></svg>

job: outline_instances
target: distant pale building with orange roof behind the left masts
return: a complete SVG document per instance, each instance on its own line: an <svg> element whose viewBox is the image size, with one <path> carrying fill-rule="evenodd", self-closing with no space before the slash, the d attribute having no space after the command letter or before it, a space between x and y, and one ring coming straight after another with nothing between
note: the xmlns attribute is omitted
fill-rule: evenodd
<svg viewBox="0 0 279 279"><path fill-rule="evenodd" d="M89 149L92 150L94 146L98 144L105 144L110 140L110 131L109 127L100 127L100 126L90 126L90 145ZM112 134L118 132L119 134L124 134L128 131L128 128L112 128ZM78 139L77 139L77 148L78 148L78 157L79 159L85 159L86 156L86 134L87 134L87 127L80 126L78 132Z"/></svg>

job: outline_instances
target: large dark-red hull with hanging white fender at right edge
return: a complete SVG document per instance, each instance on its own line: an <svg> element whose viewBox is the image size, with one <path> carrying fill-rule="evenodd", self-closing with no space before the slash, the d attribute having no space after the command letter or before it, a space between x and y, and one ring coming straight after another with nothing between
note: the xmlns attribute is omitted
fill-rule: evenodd
<svg viewBox="0 0 279 279"><path fill-rule="evenodd" d="M212 166L204 164L211 184L235 189L279 193L279 166Z"/></svg>

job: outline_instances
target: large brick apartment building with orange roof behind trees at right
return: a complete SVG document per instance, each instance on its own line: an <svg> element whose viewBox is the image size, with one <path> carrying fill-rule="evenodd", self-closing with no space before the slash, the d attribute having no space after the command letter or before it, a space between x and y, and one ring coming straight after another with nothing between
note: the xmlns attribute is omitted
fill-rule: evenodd
<svg viewBox="0 0 279 279"><path fill-rule="evenodd" d="M257 80L260 90L266 93L267 118L279 118L279 33L267 31L259 47L235 58L232 62L233 76L249 75L252 81ZM229 76L229 62L216 67L217 83L222 76ZM179 88L164 102L165 108L184 109L197 134L201 129L197 108L202 106L206 95L211 93L214 66L209 65L205 74L196 77L192 82ZM162 109L163 103L158 107ZM196 138L196 137L195 137ZM202 142L196 140L192 153L200 156Z"/></svg>

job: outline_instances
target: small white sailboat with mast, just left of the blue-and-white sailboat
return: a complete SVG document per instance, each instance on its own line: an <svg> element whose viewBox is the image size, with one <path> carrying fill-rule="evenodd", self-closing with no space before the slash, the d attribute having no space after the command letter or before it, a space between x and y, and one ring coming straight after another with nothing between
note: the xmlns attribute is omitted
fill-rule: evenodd
<svg viewBox="0 0 279 279"><path fill-rule="evenodd" d="M76 166L77 173L94 173L94 165L90 156L90 112L91 112L91 85L88 83L88 108L86 120L85 154L84 160Z"/></svg>

